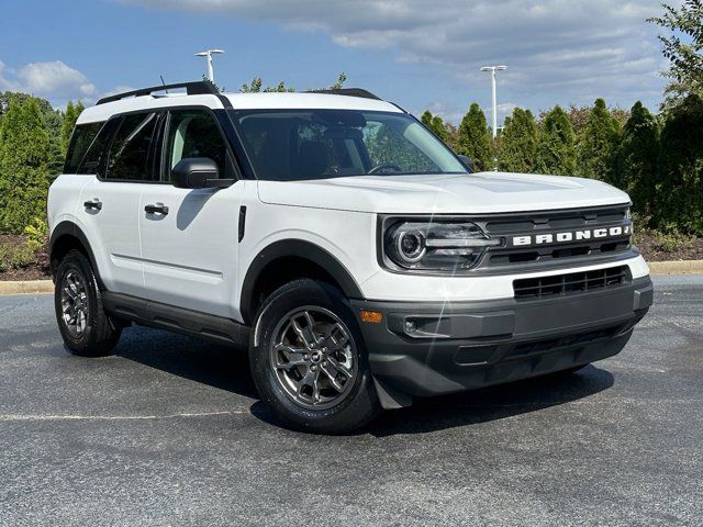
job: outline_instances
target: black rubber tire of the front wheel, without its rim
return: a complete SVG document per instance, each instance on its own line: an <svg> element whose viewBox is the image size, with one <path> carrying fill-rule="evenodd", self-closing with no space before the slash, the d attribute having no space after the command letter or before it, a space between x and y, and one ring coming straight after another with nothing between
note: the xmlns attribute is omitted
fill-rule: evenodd
<svg viewBox="0 0 703 527"><path fill-rule="evenodd" d="M280 381L278 371L272 366L272 351L277 338L275 333L280 332L287 315L295 310L311 307L312 310L326 310L334 314L350 333L348 350L356 349L356 374L345 384L345 395L338 395L338 403L332 407L315 410L303 407L295 402L293 394L287 392ZM312 313L315 313L312 311ZM316 313L316 316L320 312ZM324 316L324 315L323 315ZM255 332L258 341L253 335L249 345L249 366L256 388L261 400L270 405L276 413L291 428L317 434L346 434L369 423L378 412L380 405L373 380L368 366L368 357L364 346L361 333L354 317L348 300L336 288L315 280L302 279L282 285L275 291L259 309ZM290 326L292 327L292 326ZM354 347L354 348L352 348ZM306 356L305 356L306 357ZM301 366L305 368L305 366ZM312 367L310 366L312 369ZM298 373L295 373L298 374ZM322 372L319 372L322 377Z"/></svg>

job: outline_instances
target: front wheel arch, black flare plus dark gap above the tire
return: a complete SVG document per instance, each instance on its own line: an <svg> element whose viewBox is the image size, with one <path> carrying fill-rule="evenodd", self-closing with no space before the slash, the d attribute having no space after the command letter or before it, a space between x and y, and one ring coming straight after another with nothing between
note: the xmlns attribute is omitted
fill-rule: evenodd
<svg viewBox="0 0 703 527"><path fill-rule="evenodd" d="M311 242L282 239L259 251L246 271L239 301L244 322L254 322L264 300L261 293L297 278L321 279L339 288L348 299L364 299L352 273L330 251Z"/></svg>

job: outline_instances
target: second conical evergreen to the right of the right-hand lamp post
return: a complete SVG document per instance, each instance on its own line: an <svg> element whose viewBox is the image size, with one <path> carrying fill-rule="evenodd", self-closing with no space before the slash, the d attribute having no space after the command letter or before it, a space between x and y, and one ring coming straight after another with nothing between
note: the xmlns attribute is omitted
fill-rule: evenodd
<svg viewBox="0 0 703 527"><path fill-rule="evenodd" d="M576 146L569 115L556 105L545 114L537 148L537 171L556 176L576 172Z"/></svg>

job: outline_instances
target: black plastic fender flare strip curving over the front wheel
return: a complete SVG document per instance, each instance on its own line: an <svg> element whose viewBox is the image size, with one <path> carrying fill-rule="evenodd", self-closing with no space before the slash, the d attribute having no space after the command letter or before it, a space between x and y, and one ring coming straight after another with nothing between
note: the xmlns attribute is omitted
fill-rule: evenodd
<svg viewBox="0 0 703 527"><path fill-rule="evenodd" d="M309 260L311 264L324 269L342 288L348 299L364 299L364 293L352 273L337 260L335 256L319 245L302 239L282 239L274 242L256 255L246 271L242 282L242 295L239 311L246 323L253 323L256 313L253 313L254 287L260 278L264 269L279 258L295 257Z"/></svg>

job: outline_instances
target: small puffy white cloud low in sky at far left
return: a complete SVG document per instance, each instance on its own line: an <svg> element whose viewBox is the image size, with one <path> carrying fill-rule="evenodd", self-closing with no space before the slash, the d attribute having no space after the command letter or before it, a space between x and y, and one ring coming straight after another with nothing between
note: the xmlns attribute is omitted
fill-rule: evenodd
<svg viewBox="0 0 703 527"><path fill-rule="evenodd" d="M83 74L60 60L30 63L16 69L0 61L0 90L22 91L51 101L92 100L97 93Z"/></svg>

